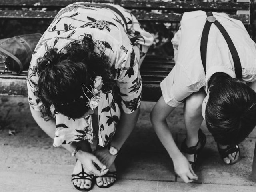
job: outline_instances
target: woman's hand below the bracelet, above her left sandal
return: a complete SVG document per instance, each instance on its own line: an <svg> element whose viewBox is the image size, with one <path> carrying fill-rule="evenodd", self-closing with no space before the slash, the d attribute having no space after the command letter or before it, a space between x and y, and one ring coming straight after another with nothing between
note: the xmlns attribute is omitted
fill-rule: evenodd
<svg viewBox="0 0 256 192"><path fill-rule="evenodd" d="M108 172L107 167L104 164L102 164L102 162L100 162L100 160L98 160L98 158L91 153L79 150L76 153L76 157L83 164L84 171L88 174L102 176Z"/></svg>

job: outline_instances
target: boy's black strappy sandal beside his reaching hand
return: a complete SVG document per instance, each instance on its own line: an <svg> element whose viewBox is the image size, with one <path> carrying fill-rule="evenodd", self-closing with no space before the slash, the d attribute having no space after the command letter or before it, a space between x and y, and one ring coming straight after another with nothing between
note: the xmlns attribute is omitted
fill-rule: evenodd
<svg viewBox="0 0 256 192"><path fill-rule="evenodd" d="M202 132L201 129L198 130L198 142L195 146L188 147L186 145L186 139L182 142L181 152L186 153L186 154L190 154L190 155L194 155L194 162L189 161L192 169L195 168L197 155L204 148L205 144L206 144L206 136Z"/></svg>

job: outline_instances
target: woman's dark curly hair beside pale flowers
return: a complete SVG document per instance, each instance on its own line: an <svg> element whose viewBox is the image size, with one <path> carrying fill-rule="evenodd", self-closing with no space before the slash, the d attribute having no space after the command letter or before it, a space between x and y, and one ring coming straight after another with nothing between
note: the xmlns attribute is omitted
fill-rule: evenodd
<svg viewBox="0 0 256 192"><path fill-rule="evenodd" d="M94 52L94 48L92 39L83 37L59 52L57 48L48 48L44 56L38 58L34 70L38 74L38 97L44 120L53 118L52 104L56 113L70 118L82 117L89 109L86 107L88 99L81 98L82 84L90 87L97 75L103 79L103 92L114 88L116 82L110 60L105 54Z"/></svg>

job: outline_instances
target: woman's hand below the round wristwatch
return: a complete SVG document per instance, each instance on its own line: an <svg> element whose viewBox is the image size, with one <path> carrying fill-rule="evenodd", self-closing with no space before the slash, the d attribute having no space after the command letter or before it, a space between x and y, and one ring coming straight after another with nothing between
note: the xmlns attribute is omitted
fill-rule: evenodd
<svg viewBox="0 0 256 192"><path fill-rule="evenodd" d="M104 163L107 167L110 167L114 160L116 159L116 155L112 155L109 153L108 148L100 148L93 152L93 154L100 159L102 163Z"/></svg>

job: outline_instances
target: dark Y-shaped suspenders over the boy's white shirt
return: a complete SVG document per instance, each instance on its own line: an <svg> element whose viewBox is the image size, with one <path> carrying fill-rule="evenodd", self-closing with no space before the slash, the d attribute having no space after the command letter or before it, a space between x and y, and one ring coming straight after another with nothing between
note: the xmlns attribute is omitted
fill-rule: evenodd
<svg viewBox="0 0 256 192"><path fill-rule="evenodd" d="M204 72L206 73L206 51L207 51L209 31L210 31L211 24L214 23L216 27L220 30L221 34L223 35L224 39L228 44L228 48L230 50L230 53L234 62L236 78L242 78L242 66L241 66L240 58L238 56L238 52L236 51L234 43L232 42L230 36L228 35L228 32L225 30L222 24L220 24L220 22L218 22L216 18L213 17L212 12L207 13L207 16L208 18L206 19L206 23L203 28L201 46L200 46L201 59L204 67Z"/></svg>

